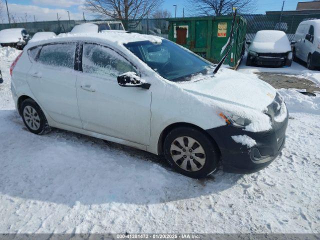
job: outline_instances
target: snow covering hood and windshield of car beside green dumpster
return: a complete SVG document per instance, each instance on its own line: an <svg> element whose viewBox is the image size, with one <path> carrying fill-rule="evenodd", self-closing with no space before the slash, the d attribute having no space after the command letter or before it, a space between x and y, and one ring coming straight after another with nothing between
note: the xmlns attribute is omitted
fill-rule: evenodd
<svg viewBox="0 0 320 240"><path fill-rule="evenodd" d="M281 53L291 51L291 46L283 31L262 30L255 34L249 46L249 51Z"/></svg>

